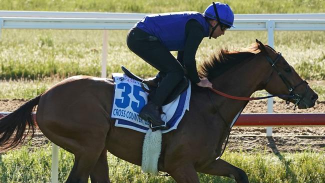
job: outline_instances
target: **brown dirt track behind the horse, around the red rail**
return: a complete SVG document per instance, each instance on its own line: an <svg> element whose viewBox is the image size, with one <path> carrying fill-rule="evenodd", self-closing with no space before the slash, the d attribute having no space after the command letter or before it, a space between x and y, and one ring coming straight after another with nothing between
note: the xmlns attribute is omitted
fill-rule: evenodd
<svg viewBox="0 0 325 183"><path fill-rule="evenodd" d="M13 111L26 100L0 100L0 111ZM251 101L243 110L243 113L266 112L266 100ZM309 109L296 109L287 107L285 102L274 102L274 112L301 113L301 112L325 112L325 101L316 102L316 105ZM314 151L325 150L325 127L273 127L273 137L265 137L265 127L234 127L231 131L228 150L244 150L268 152L294 152L306 149ZM304 136L293 136L304 135ZM318 137L307 137L307 135L318 135ZM44 136L35 136L32 143L41 145L47 143Z"/></svg>

